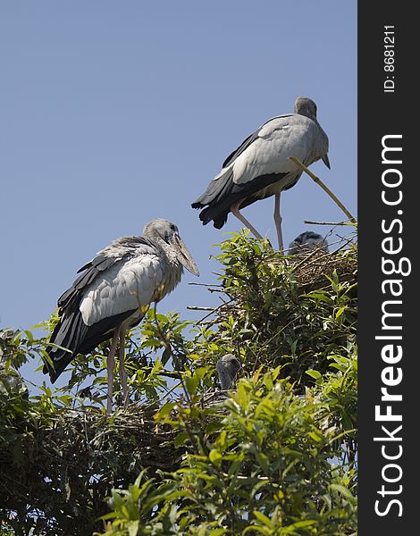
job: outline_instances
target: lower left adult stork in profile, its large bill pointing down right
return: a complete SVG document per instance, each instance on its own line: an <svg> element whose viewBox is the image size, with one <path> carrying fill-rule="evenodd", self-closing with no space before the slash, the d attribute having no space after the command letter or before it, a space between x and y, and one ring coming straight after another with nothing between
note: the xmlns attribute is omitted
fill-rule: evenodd
<svg viewBox="0 0 420 536"><path fill-rule="evenodd" d="M54 383L75 356L86 355L101 342L112 339L106 360L109 415L113 404L114 356L120 342L120 376L126 404L126 331L142 320L151 303L159 302L178 285L183 267L198 275L197 265L177 226L162 218L148 222L143 236L116 239L99 251L80 268L82 273L71 288L58 298L59 322L48 349L51 363L45 364L43 372L49 373Z"/></svg>

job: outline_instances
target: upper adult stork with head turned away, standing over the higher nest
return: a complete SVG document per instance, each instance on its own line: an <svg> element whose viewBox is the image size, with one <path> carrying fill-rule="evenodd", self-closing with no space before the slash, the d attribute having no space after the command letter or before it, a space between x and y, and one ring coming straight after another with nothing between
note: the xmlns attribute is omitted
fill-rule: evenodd
<svg viewBox="0 0 420 536"><path fill-rule="evenodd" d="M204 209L199 214L203 225L213 220L214 227L222 229L231 213L261 239L239 210L258 199L274 196L274 222L279 249L283 250L280 194L294 186L302 174L290 156L306 166L322 158L330 168L328 137L316 119L315 102L307 96L296 99L294 113L266 121L226 158L222 171L191 205Z"/></svg>

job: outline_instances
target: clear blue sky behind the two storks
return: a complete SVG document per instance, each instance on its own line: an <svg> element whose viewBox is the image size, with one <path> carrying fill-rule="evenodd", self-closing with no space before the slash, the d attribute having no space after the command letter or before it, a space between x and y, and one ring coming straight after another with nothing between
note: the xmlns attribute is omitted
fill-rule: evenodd
<svg viewBox="0 0 420 536"><path fill-rule="evenodd" d="M312 97L330 138L312 170L357 213L357 3L109 0L0 4L0 328L49 317L75 272L146 222L176 222L214 282L226 231L190 208L224 158L269 118ZM307 176L282 196L288 244L304 220L340 222ZM273 197L244 210L276 244ZM211 305L180 286L165 313Z"/></svg>

